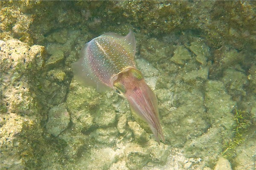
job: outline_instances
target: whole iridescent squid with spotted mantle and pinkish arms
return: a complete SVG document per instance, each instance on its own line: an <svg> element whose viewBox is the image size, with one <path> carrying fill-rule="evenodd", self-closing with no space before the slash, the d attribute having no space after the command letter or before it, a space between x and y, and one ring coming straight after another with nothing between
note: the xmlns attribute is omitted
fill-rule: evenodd
<svg viewBox="0 0 256 170"><path fill-rule="evenodd" d="M158 144L164 136L159 121L157 97L135 67L135 37L132 31L125 37L105 33L87 42L80 59L73 63L75 79L98 92L115 90L125 97L131 110L151 128Z"/></svg>

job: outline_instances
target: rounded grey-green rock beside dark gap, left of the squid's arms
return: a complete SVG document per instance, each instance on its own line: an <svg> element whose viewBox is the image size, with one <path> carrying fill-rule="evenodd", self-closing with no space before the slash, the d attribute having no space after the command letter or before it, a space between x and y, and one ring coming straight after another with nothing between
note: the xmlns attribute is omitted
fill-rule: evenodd
<svg viewBox="0 0 256 170"><path fill-rule="evenodd" d="M48 133L53 136L58 136L64 131L70 122L70 115L67 111L66 105L61 104L49 110L48 121L46 129Z"/></svg>

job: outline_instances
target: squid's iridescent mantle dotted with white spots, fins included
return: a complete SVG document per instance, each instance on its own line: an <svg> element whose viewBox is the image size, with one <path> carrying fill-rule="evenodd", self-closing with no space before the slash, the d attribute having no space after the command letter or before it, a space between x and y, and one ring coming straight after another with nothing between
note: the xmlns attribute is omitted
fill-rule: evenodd
<svg viewBox="0 0 256 170"><path fill-rule="evenodd" d="M113 33L94 38L81 50L81 59L78 61L81 63L76 62L82 68L82 73L79 74L85 75L82 76L82 81L85 85L96 88L102 85L110 87L111 79L116 74L128 67L135 68L134 49L135 39L132 32L125 38ZM76 77L76 72L74 73Z"/></svg>

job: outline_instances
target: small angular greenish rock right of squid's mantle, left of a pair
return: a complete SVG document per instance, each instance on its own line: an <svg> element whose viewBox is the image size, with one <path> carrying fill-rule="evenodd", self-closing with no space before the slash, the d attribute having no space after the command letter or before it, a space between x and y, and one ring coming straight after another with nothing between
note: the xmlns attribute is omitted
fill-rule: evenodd
<svg viewBox="0 0 256 170"><path fill-rule="evenodd" d="M185 61L188 59L191 59L191 54L189 53L188 49L186 49L183 45L180 45L175 49L171 61L175 62L176 64L184 65Z"/></svg>

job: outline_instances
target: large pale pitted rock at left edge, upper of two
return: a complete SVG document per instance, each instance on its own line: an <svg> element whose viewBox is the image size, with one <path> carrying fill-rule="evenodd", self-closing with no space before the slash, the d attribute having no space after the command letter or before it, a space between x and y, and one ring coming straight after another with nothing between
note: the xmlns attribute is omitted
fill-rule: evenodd
<svg viewBox="0 0 256 170"><path fill-rule="evenodd" d="M29 84L29 77L41 70L44 47L37 45L30 48L19 40L0 40L0 47L1 110L4 107L13 113L32 113L34 98L30 88L33 86Z"/></svg>

